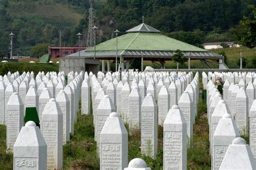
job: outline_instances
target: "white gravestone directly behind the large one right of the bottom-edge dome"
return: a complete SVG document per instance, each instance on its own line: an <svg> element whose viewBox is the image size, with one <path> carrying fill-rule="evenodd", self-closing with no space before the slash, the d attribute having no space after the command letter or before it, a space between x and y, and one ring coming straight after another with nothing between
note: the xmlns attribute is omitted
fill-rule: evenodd
<svg viewBox="0 0 256 170"><path fill-rule="evenodd" d="M180 110L183 112L183 116L185 117L186 120L187 136L191 138L193 136L194 108L190 94L188 94L187 91L184 91L184 93L181 95L178 105Z"/></svg>

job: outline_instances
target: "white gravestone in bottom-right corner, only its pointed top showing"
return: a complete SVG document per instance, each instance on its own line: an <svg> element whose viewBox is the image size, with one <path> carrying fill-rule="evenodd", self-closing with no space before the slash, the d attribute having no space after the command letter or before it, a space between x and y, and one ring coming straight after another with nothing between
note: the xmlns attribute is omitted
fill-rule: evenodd
<svg viewBox="0 0 256 170"><path fill-rule="evenodd" d="M226 154L220 165L220 170L224 169L256 169L255 160L246 144L245 139L235 138L230 146L228 146Z"/></svg>

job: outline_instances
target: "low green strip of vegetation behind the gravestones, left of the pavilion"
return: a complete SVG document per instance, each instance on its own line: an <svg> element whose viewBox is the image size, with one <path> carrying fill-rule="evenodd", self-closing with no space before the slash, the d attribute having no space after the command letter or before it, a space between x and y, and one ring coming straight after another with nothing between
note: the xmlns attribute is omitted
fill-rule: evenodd
<svg viewBox="0 0 256 170"><path fill-rule="evenodd" d="M22 74L25 72L33 71L35 75L39 71L47 72L58 72L59 71L59 64L58 63L51 63L51 64L40 64L40 63L26 63L26 62L0 62L0 75L7 74L8 72L14 73L19 72Z"/></svg>

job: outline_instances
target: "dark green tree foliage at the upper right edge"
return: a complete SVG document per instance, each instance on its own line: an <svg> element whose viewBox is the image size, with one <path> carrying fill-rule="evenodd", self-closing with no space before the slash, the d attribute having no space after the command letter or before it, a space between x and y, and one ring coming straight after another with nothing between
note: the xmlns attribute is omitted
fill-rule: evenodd
<svg viewBox="0 0 256 170"><path fill-rule="evenodd" d="M239 43L245 47L254 48L256 46L256 8L254 5L248 5L248 8L253 10L254 19L244 17L244 20L241 21L246 34L244 34Z"/></svg>

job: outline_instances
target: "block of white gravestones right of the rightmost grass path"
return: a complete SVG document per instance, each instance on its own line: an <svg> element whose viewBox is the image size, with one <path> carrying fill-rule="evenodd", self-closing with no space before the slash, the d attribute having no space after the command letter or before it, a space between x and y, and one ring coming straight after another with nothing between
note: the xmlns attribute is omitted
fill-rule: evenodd
<svg viewBox="0 0 256 170"><path fill-rule="evenodd" d="M221 74L225 75L225 73ZM218 73L214 73L214 75L220 77L220 74ZM207 75L203 72L202 76L203 84L205 84L204 77ZM228 79L226 79L224 86L227 82L229 82ZM250 84L252 83L248 82L247 88L251 86ZM253 142L251 143L251 138L253 138L255 133L253 132L255 131L253 128L255 123L252 122L250 124L250 132L252 132L252 134L250 134L250 147L252 151L250 147L246 145L244 139L238 138L240 137L240 133L245 133L248 130L247 89L246 91L244 87L239 89L238 84L236 85L237 93L233 95L234 98L232 99L232 102L234 100L235 104L230 107L228 105L229 100L225 101L225 95L230 94L225 94L225 89L223 91L223 100L219 90L217 90L211 79L205 87L207 89L207 115L208 123L210 125L209 138L212 169L255 169L255 161L253 158L253 155L255 154L252 154L252 151L254 151L254 144ZM232 106L236 106L237 109L233 110ZM253 116L255 112L254 108L256 109L256 100L255 104L253 102L250 110L251 119L255 117ZM231 110L233 110L233 112ZM239 157L234 156L236 153L239 153ZM245 162L246 167L244 165Z"/></svg>

